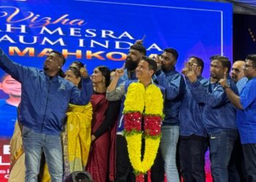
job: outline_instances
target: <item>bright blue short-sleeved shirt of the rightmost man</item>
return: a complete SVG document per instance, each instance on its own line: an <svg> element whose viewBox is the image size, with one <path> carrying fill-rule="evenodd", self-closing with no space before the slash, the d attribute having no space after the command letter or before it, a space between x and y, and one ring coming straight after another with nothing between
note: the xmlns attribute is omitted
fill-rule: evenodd
<svg viewBox="0 0 256 182"><path fill-rule="evenodd" d="M256 143L256 78L249 80L240 95L244 109L238 109L237 124L241 143Z"/></svg>

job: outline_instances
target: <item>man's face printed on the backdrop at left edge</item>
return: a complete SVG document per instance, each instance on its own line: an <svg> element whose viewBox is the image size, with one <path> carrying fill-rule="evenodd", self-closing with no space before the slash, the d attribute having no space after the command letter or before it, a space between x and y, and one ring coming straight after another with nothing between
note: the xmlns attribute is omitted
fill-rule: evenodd
<svg viewBox="0 0 256 182"><path fill-rule="evenodd" d="M21 84L12 78L12 76L7 75L4 77L3 82L0 83L0 89L3 90L8 95L20 98L21 96Z"/></svg>

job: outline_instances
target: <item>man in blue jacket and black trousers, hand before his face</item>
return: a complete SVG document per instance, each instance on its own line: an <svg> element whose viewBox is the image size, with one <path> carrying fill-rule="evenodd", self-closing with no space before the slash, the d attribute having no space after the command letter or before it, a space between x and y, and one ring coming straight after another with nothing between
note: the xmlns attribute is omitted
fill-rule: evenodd
<svg viewBox="0 0 256 182"><path fill-rule="evenodd" d="M203 87L208 87L208 80L201 75L203 67L203 60L193 56L187 61L182 73L186 75L187 71L195 68L197 80ZM186 81L187 84L190 84L187 78ZM186 87L179 111L180 143L178 149L181 175L184 182L206 181L204 167L207 150L207 132L202 120L203 105L203 103L197 103L189 87Z"/></svg>

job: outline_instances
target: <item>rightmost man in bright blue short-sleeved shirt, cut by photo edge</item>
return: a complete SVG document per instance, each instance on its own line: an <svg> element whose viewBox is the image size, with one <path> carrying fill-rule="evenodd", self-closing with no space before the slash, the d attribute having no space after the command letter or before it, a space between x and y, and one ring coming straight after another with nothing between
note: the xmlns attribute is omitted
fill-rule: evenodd
<svg viewBox="0 0 256 182"><path fill-rule="evenodd" d="M220 80L227 97L233 103L237 112L238 131L244 151L247 181L256 181L256 55L247 55L245 75L249 79L240 97L230 90L227 79Z"/></svg>

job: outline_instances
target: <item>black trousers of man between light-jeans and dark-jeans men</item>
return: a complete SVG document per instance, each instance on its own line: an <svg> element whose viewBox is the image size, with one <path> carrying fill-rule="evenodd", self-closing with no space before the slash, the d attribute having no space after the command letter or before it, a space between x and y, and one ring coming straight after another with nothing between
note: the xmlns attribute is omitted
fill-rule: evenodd
<svg viewBox="0 0 256 182"><path fill-rule="evenodd" d="M180 138L178 153L184 182L206 181L204 166L207 146L207 138Z"/></svg>

